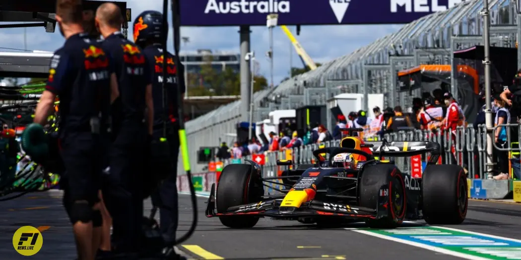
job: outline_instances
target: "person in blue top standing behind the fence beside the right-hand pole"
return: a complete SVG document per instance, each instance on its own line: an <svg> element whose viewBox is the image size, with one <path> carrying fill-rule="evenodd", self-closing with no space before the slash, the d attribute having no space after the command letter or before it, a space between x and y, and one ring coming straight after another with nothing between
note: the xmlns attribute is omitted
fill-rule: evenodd
<svg viewBox="0 0 521 260"><path fill-rule="evenodd" d="M499 108L495 114L494 126L508 124L510 122L510 112L505 108L505 101L501 97L495 96L494 103ZM507 148L506 127L499 126L494 131L494 142L500 148ZM494 179L508 179L508 152L496 151L499 165L499 174L494 176Z"/></svg>

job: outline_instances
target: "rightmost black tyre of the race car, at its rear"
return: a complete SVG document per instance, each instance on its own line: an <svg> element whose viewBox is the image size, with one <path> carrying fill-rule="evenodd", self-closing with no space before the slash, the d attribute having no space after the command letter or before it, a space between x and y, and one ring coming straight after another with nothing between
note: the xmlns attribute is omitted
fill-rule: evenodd
<svg viewBox="0 0 521 260"><path fill-rule="evenodd" d="M459 165L429 165L423 173L423 214L430 225L461 224L467 215L467 175Z"/></svg>

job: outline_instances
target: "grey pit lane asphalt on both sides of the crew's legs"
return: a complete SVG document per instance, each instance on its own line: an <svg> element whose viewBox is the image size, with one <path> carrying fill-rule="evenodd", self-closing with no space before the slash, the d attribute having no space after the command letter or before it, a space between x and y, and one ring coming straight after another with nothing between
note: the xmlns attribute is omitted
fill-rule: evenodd
<svg viewBox="0 0 521 260"><path fill-rule="evenodd" d="M190 197L180 196L179 235L191 224ZM461 259L411 245L367 236L344 228L317 229L297 222L259 220L250 230L232 230L217 218L206 218L206 198L198 198L199 226L187 242L179 246L194 259ZM521 205L488 201L470 201L461 230L521 239ZM145 204L150 209L150 203ZM61 193L42 192L0 202L0 259L75 259L69 220L61 206ZM145 211L148 215L148 211ZM422 222L419 222L422 224ZM13 248L13 234L21 226L40 227L43 247L30 257ZM416 224L406 224L414 227Z"/></svg>

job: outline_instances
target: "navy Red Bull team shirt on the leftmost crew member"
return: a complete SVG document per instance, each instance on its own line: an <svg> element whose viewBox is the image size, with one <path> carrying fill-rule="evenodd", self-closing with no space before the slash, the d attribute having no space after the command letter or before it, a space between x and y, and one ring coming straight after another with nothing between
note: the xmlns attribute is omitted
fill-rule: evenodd
<svg viewBox="0 0 521 260"><path fill-rule="evenodd" d="M98 118L101 131L109 127L110 75L113 61L99 42L86 33L70 36L51 58L46 90L59 96L60 137L91 132Z"/></svg>

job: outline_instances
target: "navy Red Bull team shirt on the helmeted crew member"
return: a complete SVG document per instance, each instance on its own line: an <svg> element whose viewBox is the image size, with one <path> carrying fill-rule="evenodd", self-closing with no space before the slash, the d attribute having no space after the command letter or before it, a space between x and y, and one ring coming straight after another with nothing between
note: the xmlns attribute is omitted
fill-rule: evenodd
<svg viewBox="0 0 521 260"><path fill-rule="evenodd" d="M175 64L172 54L167 53L167 100L166 109L163 108L163 47L160 44L148 45L143 49L146 59L154 67L152 69L152 96L154 99L154 129L163 127L165 114L169 117L170 122L180 120L177 104L177 88L181 93L185 93L184 85L184 66L183 64ZM177 82L177 73L179 73L181 82ZM168 122L167 122L168 123ZM168 125L168 124L167 124Z"/></svg>

